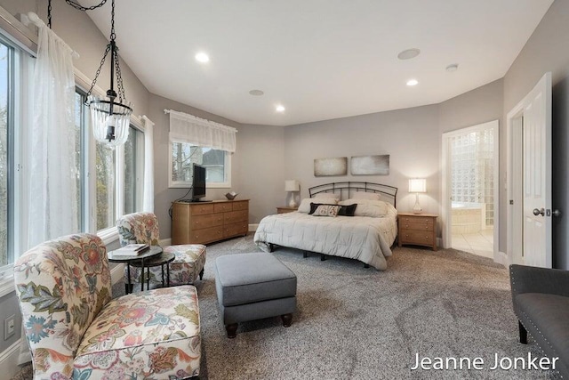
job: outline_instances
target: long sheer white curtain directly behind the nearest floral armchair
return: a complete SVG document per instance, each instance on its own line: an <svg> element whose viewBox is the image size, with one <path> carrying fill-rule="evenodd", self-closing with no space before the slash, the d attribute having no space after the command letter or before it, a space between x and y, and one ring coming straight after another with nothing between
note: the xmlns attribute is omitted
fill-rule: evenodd
<svg viewBox="0 0 569 380"><path fill-rule="evenodd" d="M78 232L73 51L39 27L28 137L28 247Z"/></svg>

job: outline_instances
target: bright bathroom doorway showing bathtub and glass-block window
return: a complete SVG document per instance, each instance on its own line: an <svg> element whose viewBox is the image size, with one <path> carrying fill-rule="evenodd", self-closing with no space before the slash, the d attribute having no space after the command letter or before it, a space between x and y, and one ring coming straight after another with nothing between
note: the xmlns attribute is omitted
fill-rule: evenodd
<svg viewBox="0 0 569 380"><path fill-rule="evenodd" d="M445 247L494 258L498 120L443 134Z"/></svg>

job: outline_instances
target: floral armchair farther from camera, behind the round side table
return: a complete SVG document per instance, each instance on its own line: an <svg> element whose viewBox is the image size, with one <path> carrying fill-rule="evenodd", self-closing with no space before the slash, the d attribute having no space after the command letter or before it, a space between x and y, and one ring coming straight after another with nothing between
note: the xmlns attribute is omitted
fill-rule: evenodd
<svg viewBox="0 0 569 380"><path fill-rule="evenodd" d="M116 221L116 228L121 246L132 243L158 246L160 232L155 214L126 214ZM198 276L199 279L203 279L205 246L201 244L167 246L164 247L164 252L174 254L174 261L170 263L170 285L193 284ZM140 267L132 267L131 265L132 284L139 283L142 275ZM150 268L150 281L162 283L162 270L160 268ZM125 269L124 283L127 284L128 282L128 274Z"/></svg>

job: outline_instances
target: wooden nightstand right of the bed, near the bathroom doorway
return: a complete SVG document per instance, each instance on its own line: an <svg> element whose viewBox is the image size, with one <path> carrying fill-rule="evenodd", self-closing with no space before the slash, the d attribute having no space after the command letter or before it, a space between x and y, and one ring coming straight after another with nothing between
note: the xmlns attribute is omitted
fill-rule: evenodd
<svg viewBox="0 0 569 380"><path fill-rule="evenodd" d="M431 247L437 250L437 217L435 214L399 213L399 247L402 244Z"/></svg>

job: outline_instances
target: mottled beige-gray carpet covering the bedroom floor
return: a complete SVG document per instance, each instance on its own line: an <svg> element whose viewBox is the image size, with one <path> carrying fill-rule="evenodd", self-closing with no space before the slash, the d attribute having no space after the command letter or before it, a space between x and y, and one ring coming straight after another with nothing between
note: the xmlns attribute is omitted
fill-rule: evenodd
<svg viewBox="0 0 569 380"><path fill-rule="evenodd" d="M490 370L499 357L539 355L517 343L508 272L490 259L455 250L395 248L387 271L279 248L298 277L293 326L280 319L220 321L213 265L220 255L253 252L252 236L207 248L199 293L202 379L547 379L536 370ZM114 295L124 291L114 287ZM412 370L421 357L481 357L483 370ZM17 377L25 379L31 377Z"/></svg>

